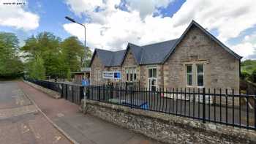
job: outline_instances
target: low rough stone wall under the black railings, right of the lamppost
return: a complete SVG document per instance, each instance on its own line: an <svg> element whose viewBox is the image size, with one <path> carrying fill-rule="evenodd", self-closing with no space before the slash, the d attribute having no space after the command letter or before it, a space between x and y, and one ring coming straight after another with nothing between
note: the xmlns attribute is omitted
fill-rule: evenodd
<svg viewBox="0 0 256 144"><path fill-rule="evenodd" d="M82 100L83 113L145 134L163 143L256 143L256 132L121 105Z"/></svg>

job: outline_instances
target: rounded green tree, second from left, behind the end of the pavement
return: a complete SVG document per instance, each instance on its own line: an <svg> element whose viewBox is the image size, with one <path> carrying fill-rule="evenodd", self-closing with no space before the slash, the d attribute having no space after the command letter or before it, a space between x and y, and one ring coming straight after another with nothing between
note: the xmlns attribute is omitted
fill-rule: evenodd
<svg viewBox="0 0 256 144"><path fill-rule="evenodd" d="M61 39L50 32L41 32L36 37L31 36L26 39L25 45L21 50L25 53L23 57L26 62L33 61L36 56L43 60L45 75L56 77L64 70L61 61Z"/></svg>

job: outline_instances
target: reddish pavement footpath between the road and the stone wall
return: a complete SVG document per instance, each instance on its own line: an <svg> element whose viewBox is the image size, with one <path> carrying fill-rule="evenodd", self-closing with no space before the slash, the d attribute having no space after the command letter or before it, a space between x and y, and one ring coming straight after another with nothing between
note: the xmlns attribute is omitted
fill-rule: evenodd
<svg viewBox="0 0 256 144"><path fill-rule="evenodd" d="M92 115L79 112L78 105L65 99L53 99L41 91L23 83L18 87L42 110L53 124L76 143L86 144L153 144L159 143L142 134L110 124Z"/></svg>

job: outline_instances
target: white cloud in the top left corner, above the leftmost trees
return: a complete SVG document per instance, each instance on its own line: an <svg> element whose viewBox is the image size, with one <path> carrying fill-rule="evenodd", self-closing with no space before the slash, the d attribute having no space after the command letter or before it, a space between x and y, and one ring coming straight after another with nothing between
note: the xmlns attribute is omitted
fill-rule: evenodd
<svg viewBox="0 0 256 144"><path fill-rule="evenodd" d="M23 9L22 5L4 4L12 1L1 0L0 3L0 26L12 26L15 29L25 31L37 29L39 26L39 16ZM15 1L19 2L19 1ZM20 2L24 2L21 1ZM27 2L25 1L27 4Z"/></svg>

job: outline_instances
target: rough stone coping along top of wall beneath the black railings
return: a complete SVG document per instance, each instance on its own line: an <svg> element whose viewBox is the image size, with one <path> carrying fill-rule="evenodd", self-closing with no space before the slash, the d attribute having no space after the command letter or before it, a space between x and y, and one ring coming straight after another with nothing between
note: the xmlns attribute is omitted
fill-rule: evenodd
<svg viewBox="0 0 256 144"><path fill-rule="evenodd" d="M83 99L84 102L84 99ZM82 104L83 104L82 102ZM181 128L197 129L200 132L207 132L209 134L222 135L227 137L240 137L245 140L250 140L256 143L256 132L251 129L241 129L238 127L227 126L225 124L214 124L211 122L203 123L203 121L186 118L177 115L169 115L165 113L158 113L149 110L140 110L122 105L113 105L105 102L98 102L94 100L86 99L86 105L99 105L100 107L106 107L116 111L122 111L123 113L131 113L133 115L145 116L148 118L156 118L165 124L172 124L173 126L179 126Z"/></svg>

